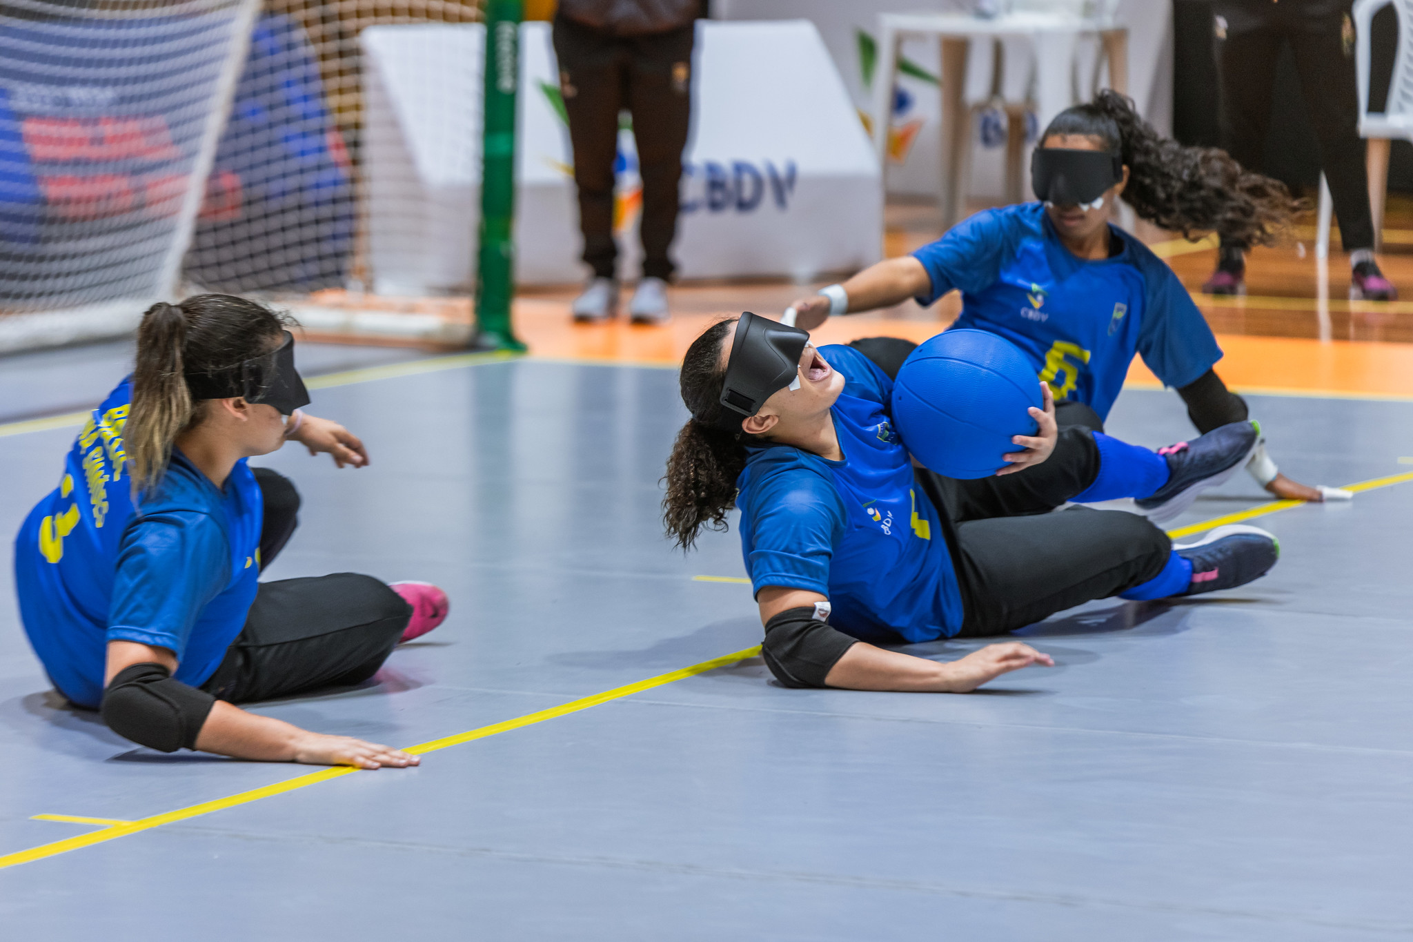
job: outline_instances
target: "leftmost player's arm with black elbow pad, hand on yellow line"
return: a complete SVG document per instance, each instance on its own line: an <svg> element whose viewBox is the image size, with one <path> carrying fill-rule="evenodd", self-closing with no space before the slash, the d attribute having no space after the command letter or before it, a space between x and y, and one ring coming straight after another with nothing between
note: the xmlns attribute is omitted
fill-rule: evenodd
<svg viewBox="0 0 1413 942"><path fill-rule="evenodd" d="M175 669L177 657L167 648L109 641L103 719L113 732L162 751L187 746L266 763L401 768L421 761L387 746L350 736L311 733L271 716L247 713L172 679ZM192 729L196 730L194 741Z"/></svg>

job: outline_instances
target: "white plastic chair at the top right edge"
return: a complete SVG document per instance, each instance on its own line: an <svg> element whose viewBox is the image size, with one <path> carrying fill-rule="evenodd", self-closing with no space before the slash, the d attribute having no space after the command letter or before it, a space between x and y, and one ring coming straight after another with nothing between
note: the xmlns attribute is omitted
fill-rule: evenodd
<svg viewBox="0 0 1413 942"><path fill-rule="evenodd" d="M1392 6L1399 20L1397 51L1393 56L1393 81L1389 99L1379 114L1369 113L1369 30L1373 14ZM1355 0L1354 71L1359 85L1359 137L1368 141L1365 161L1369 168L1369 213L1373 216L1373 247L1383 243L1383 203L1389 189L1389 141L1413 141L1413 0ZM1320 210L1316 222L1316 257L1330 257L1330 184L1320 174Z"/></svg>

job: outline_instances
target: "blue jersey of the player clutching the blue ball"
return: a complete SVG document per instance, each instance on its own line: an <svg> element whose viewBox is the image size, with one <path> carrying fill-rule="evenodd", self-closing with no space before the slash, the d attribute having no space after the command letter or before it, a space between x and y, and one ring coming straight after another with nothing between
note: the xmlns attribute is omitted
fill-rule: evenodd
<svg viewBox="0 0 1413 942"><path fill-rule="evenodd" d="M893 381L853 347L820 354L845 380L831 410L844 460L788 445L750 449L736 504L752 589L818 592L832 604L829 624L863 640L954 636L957 573L889 418Z"/></svg>

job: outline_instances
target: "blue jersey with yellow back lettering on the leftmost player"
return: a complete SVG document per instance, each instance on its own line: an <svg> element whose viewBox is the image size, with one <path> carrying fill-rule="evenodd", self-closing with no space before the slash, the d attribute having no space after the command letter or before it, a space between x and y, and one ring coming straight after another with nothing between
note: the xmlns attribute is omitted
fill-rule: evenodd
<svg viewBox="0 0 1413 942"><path fill-rule="evenodd" d="M103 699L107 643L171 650L201 685L246 623L260 573L263 504L244 459L218 489L179 452L134 510L123 451L124 380L83 425L59 486L16 538L16 588L30 644L61 693Z"/></svg>

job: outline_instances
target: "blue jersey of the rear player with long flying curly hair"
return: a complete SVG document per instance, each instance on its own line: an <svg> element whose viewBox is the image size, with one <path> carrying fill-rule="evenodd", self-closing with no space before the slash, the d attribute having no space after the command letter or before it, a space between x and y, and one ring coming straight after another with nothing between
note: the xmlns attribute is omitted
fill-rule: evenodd
<svg viewBox="0 0 1413 942"><path fill-rule="evenodd" d="M1060 243L1044 203L988 209L913 256L937 301L962 291L955 328L1006 338L1026 352L1057 400L1106 417L1135 352L1164 386L1198 380L1222 357L1191 295L1161 258L1109 227L1119 251L1085 261Z"/></svg>

